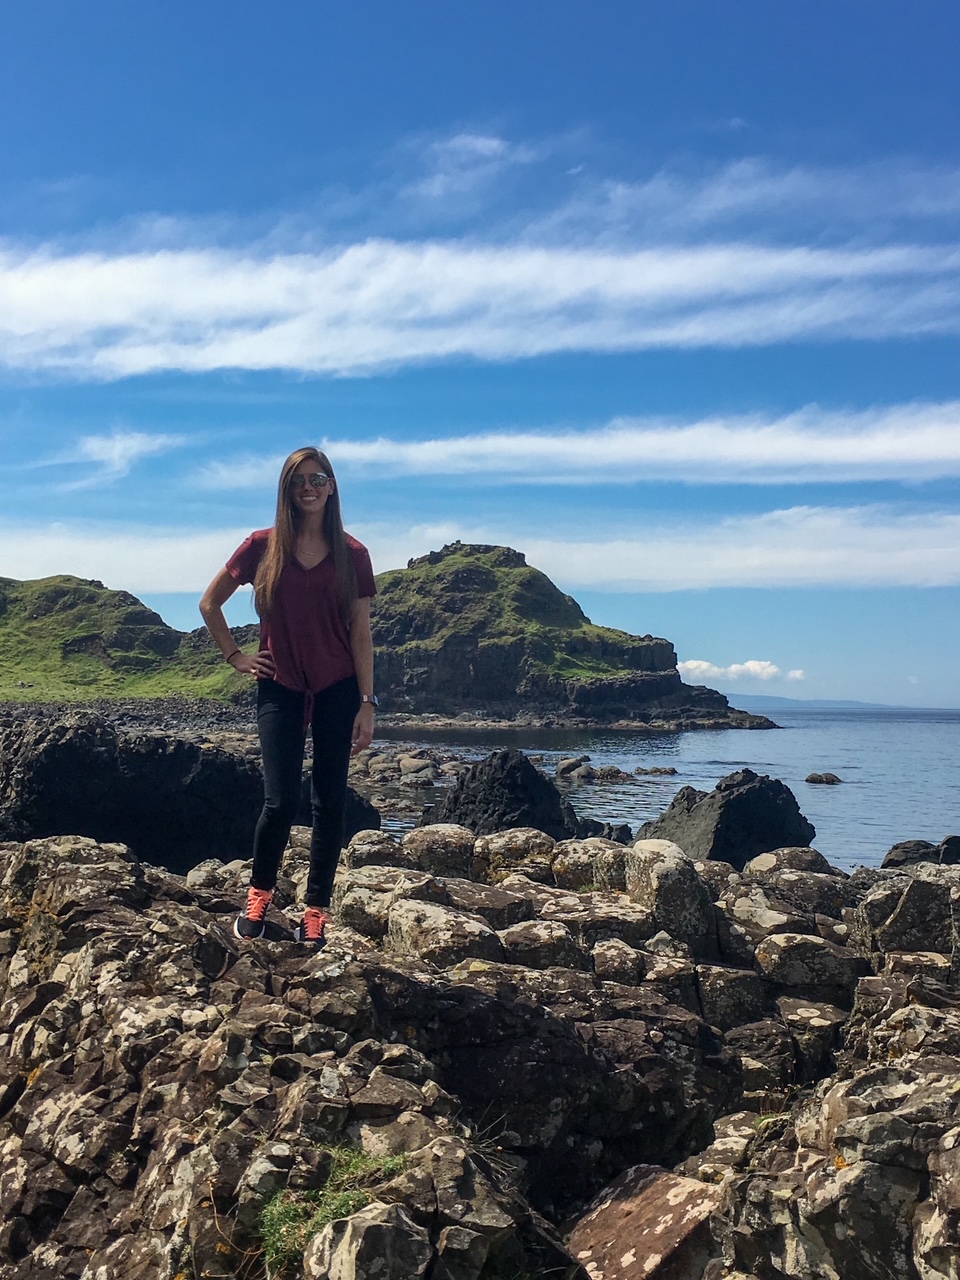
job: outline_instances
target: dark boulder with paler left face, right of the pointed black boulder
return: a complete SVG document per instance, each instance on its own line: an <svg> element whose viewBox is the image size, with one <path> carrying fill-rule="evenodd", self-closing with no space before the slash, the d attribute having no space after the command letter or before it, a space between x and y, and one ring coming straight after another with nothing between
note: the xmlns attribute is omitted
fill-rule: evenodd
<svg viewBox="0 0 960 1280"><path fill-rule="evenodd" d="M672 840L689 858L737 870L772 849L808 846L815 835L790 787L753 769L721 778L713 791L682 787L659 818L637 831L639 840Z"/></svg>

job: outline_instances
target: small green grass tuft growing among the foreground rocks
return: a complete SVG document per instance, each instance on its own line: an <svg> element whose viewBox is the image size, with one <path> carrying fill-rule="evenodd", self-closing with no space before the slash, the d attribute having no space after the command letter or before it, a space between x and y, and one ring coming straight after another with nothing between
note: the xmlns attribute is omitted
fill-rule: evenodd
<svg viewBox="0 0 960 1280"><path fill-rule="evenodd" d="M375 1199L376 1188L396 1178L406 1156L369 1156L357 1147L324 1148L330 1170L317 1190L282 1190L260 1217L264 1256L273 1275L282 1275L328 1222L349 1217Z"/></svg>

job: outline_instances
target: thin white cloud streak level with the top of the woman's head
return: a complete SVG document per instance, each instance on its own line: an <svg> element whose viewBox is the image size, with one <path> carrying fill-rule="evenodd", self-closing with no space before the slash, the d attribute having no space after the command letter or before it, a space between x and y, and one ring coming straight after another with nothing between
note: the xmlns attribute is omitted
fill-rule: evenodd
<svg viewBox="0 0 960 1280"><path fill-rule="evenodd" d="M495 476L498 483L846 484L960 475L960 402L692 422L620 417L571 431L490 431L425 440L326 439L335 467L366 475ZM211 489L262 488L283 458L210 462Z"/></svg>

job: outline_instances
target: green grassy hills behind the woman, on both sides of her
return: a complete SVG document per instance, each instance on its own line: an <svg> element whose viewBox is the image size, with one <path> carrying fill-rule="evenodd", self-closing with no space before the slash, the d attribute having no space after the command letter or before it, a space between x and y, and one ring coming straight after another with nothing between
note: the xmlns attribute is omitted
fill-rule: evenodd
<svg viewBox="0 0 960 1280"><path fill-rule="evenodd" d="M594 626L520 552L453 543L378 577L384 710L650 719L726 714L681 682L668 640ZM256 644L257 628L234 628ZM248 680L204 628L175 631L128 591L58 576L0 579L0 699L241 698Z"/></svg>

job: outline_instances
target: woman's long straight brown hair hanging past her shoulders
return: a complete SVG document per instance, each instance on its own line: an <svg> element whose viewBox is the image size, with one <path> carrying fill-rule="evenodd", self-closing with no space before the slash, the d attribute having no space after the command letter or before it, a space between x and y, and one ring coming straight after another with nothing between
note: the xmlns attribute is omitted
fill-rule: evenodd
<svg viewBox="0 0 960 1280"><path fill-rule="evenodd" d="M317 467L333 480L333 493L328 494L324 507L324 536L337 572L340 617L349 626L353 618L353 605L357 603L357 571L353 564L353 554L347 545L347 535L343 531L340 488L333 474L330 460L320 449L311 445L294 449L280 471L280 483L276 489L276 520L270 530L264 558L260 561L253 579L253 600L260 617L269 617L283 566L293 559L297 534L300 532L301 513L293 503L292 476L301 462L306 462L308 458L316 462Z"/></svg>

